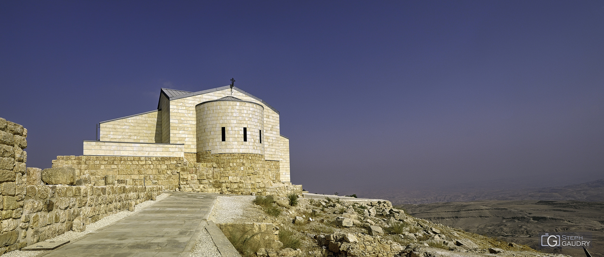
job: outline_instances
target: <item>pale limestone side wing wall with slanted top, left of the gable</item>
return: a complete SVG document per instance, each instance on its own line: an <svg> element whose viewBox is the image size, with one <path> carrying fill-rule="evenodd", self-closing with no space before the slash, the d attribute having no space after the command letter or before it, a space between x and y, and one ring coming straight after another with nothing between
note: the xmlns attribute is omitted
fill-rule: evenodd
<svg viewBox="0 0 604 257"><path fill-rule="evenodd" d="M161 111L148 112L100 124L101 141L161 142Z"/></svg>

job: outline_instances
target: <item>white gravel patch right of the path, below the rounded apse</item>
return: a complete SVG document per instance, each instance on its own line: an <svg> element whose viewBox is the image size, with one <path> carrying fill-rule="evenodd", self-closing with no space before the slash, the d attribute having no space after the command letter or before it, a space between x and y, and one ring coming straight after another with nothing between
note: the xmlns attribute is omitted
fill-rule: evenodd
<svg viewBox="0 0 604 257"><path fill-rule="evenodd" d="M237 195L228 197L218 197L212 216L216 223L232 223L243 216L246 208L252 206L254 200L252 195Z"/></svg>

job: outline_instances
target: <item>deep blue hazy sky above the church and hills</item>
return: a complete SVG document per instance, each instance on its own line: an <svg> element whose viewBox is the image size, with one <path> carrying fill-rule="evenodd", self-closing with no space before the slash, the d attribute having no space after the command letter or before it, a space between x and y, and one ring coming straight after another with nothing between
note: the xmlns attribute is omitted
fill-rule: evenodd
<svg viewBox="0 0 604 257"><path fill-rule="evenodd" d="M311 192L604 177L604 1L2 1L0 33L30 167L234 77Z"/></svg>

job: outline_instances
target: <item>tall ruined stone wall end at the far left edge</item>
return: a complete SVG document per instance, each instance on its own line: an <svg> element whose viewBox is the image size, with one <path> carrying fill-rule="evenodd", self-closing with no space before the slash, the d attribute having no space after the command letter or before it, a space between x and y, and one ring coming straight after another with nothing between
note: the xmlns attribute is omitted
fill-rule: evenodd
<svg viewBox="0 0 604 257"><path fill-rule="evenodd" d="M23 199L25 195L25 161L27 129L0 118L0 255L19 248Z"/></svg>

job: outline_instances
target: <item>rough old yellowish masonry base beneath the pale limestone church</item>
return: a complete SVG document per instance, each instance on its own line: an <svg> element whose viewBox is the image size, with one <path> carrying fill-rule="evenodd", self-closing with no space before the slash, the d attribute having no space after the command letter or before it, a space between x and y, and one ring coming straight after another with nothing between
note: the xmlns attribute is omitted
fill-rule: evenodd
<svg viewBox="0 0 604 257"><path fill-rule="evenodd" d="M164 190L266 195L301 192L278 183L279 161L261 154L185 154L185 157L57 156L53 168L76 169L77 180L103 186L106 175L118 184L158 185ZM144 182L143 182L144 180Z"/></svg>

